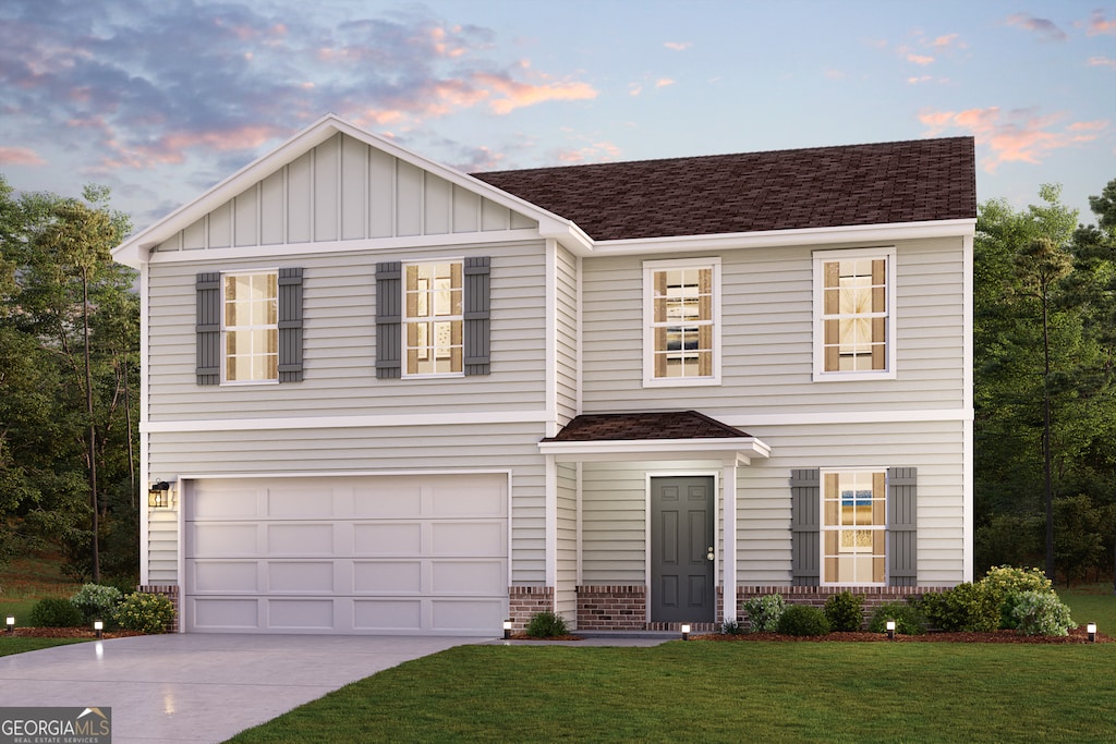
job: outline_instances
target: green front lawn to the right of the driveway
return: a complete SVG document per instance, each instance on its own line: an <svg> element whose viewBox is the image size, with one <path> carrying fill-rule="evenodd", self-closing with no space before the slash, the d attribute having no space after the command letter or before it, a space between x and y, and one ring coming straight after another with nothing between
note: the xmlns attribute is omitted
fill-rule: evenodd
<svg viewBox="0 0 1116 744"><path fill-rule="evenodd" d="M1116 644L464 646L231 740L1112 742Z"/></svg>

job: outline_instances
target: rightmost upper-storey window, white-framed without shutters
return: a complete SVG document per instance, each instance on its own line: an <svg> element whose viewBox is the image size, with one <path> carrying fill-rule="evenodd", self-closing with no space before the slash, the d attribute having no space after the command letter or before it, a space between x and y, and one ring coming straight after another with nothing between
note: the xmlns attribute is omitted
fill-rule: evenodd
<svg viewBox="0 0 1116 744"><path fill-rule="evenodd" d="M814 254L815 378L894 377L895 251Z"/></svg>

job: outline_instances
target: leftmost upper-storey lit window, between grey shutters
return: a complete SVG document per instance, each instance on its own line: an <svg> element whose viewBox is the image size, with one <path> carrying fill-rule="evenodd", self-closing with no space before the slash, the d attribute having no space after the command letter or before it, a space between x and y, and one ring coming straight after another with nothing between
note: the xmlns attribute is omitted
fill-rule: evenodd
<svg viewBox="0 0 1116 744"><path fill-rule="evenodd" d="M224 381L279 381L279 277L224 274L221 335Z"/></svg>

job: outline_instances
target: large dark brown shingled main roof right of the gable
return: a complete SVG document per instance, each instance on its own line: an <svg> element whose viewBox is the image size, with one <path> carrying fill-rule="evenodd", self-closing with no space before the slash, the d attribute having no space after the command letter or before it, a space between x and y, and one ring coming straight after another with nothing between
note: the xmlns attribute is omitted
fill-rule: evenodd
<svg viewBox="0 0 1116 744"><path fill-rule="evenodd" d="M474 173L594 240L977 216L972 137Z"/></svg>

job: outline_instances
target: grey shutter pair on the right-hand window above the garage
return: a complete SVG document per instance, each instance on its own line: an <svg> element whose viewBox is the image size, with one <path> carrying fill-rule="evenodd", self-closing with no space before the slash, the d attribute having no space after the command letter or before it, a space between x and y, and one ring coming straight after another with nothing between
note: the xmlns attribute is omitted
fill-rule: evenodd
<svg viewBox="0 0 1116 744"><path fill-rule="evenodd" d="M491 337L491 297L489 258L465 259L463 269L464 307L462 330L465 375L488 375ZM403 264L391 261L376 264L376 377L403 376Z"/></svg>

